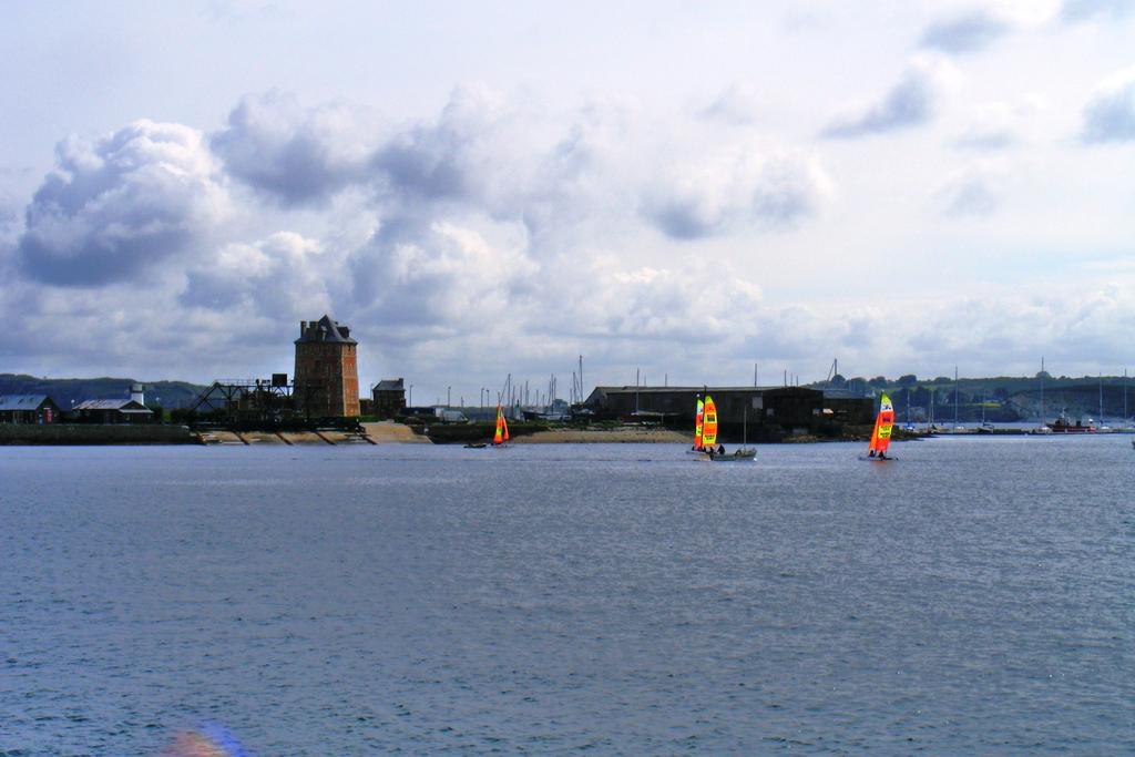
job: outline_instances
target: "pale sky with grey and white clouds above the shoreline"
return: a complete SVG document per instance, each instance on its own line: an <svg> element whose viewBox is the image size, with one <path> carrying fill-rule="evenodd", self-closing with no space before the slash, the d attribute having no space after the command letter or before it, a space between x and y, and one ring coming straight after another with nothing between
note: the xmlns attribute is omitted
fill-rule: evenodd
<svg viewBox="0 0 1135 757"><path fill-rule="evenodd" d="M1117 373L1135 2L9 2L0 372Z"/></svg>

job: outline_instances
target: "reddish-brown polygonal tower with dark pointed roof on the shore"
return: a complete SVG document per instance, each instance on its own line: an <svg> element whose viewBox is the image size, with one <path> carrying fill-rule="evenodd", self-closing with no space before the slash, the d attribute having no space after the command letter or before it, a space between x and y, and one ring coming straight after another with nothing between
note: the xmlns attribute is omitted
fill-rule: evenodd
<svg viewBox="0 0 1135 757"><path fill-rule="evenodd" d="M309 418L359 417L359 343L323 316L300 321L295 340L296 406Z"/></svg>

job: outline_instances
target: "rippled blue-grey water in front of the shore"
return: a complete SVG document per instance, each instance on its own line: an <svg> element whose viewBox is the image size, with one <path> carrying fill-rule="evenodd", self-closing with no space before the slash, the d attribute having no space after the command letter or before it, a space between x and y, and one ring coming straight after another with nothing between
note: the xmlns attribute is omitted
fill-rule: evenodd
<svg viewBox="0 0 1135 757"><path fill-rule="evenodd" d="M0 754L1132 752L1128 439L0 448Z"/></svg>

